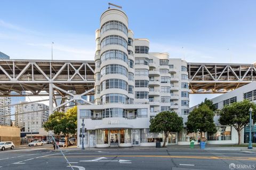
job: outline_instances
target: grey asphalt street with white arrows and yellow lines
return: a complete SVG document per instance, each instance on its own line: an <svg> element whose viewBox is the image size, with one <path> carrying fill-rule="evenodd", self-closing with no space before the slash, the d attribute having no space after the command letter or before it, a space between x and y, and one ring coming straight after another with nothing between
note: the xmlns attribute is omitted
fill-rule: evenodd
<svg viewBox="0 0 256 170"><path fill-rule="evenodd" d="M77 148L52 145L0 151L2 169L256 169L256 152L237 149ZM231 167L230 164L232 165ZM71 166L71 167L70 167Z"/></svg>

